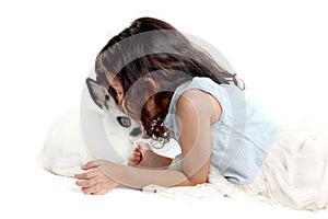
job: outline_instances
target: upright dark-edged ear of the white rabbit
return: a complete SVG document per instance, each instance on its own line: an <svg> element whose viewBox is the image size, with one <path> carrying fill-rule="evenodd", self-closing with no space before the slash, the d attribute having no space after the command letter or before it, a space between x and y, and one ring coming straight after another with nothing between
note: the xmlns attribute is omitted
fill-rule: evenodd
<svg viewBox="0 0 328 219"><path fill-rule="evenodd" d="M104 106L108 110L107 102L109 101L109 94L107 90L97 83L95 80L87 78L86 79L87 90L94 103L101 108L105 110Z"/></svg>

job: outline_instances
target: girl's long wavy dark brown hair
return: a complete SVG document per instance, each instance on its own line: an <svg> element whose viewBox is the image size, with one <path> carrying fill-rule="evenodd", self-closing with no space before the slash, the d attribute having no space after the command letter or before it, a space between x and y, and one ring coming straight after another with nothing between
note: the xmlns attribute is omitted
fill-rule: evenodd
<svg viewBox="0 0 328 219"><path fill-rule="evenodd" d="M219 84L241 87L236 74L219 66L175 27L153 18L137 19L114 36L97 55L95 71L97 80L108 85L109 93L114 91L105 73L114 73L120 80L125 94L122 107L142 120L150 136L154 134L151 130L154 113L157 117L166 115L172 94L183 82L207 77ZM149 99L155 100L155 112L147 107Z"/></svg>

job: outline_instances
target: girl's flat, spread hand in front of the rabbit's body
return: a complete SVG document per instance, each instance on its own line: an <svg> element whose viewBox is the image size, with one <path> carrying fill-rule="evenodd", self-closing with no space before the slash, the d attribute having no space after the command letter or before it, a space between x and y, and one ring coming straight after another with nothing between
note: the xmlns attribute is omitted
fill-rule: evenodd
<svg viewBox="0 0 328 219"><path fill-rule="evenodd" d="M105 160L91 161L82 166L82 170L87 172L74 175L79 180L75 184L84 194L104 195L119 185L101 170L104 165L106 165Z"/></svg>

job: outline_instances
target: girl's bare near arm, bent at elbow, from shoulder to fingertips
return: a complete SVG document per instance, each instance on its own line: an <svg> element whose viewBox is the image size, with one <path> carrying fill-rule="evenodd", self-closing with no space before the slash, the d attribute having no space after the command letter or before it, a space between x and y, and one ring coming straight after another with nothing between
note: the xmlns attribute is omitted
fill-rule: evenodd
<svg viewBox="0 0 328 219"><path fill-rule="evenodd" d="M206 183L211 157L211 124L220 118L221 108L213 97L199 90L185 92L176 104L181 171L142 169L112 161L89 162L89 170L77 174L77 185L87 194L104 194L117 184L142 188L150 184L183 186Z"/></svg>

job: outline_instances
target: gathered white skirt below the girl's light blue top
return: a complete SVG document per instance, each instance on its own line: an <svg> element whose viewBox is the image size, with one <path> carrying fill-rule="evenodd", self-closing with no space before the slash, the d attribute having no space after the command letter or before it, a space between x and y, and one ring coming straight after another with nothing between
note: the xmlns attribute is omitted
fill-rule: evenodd
<svg viewBox="0 0 328 219"><path fill-rule="evenodd" d="M256 180L241 188L248 195L295 209L328 206L328 123L288 122Z"/></svg>

